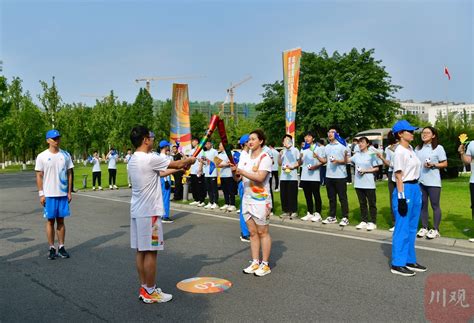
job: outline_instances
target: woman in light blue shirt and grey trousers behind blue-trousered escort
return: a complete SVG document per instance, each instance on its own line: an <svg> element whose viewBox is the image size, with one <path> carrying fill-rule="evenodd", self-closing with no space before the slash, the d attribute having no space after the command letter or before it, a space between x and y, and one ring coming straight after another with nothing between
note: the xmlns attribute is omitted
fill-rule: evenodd
<svg viewBox="0 0 474 323"><path fill-rule="evenodd" d="M421 229L417 236L434 239L440 237L439 224L441 223L441 196L440 169L448 167L448 158L443 146L438 144L438 132L433 127L425 127L421 131L423 144L416 147L415 152L421 161L420 187L422 193ZM433 209L433 228L428 228L428 198Z"/></svg>

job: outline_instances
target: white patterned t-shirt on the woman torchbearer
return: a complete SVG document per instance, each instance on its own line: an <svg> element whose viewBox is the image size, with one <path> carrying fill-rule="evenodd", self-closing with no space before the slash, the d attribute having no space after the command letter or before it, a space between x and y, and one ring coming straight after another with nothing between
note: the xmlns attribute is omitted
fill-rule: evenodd
<svg viewBox="0 0 474 323"><path fill-rule="evenodd" d="M271 203L272 197L270 194L270 173L272 172L272 159L267 153L260 153L257 158L252 159L250 154L240 155L239 169L247 172L255 172L265 170L268 172L265 180L261 184L249 180L242 176L244 184L243 203L246 204L267 204Z"/></svg>

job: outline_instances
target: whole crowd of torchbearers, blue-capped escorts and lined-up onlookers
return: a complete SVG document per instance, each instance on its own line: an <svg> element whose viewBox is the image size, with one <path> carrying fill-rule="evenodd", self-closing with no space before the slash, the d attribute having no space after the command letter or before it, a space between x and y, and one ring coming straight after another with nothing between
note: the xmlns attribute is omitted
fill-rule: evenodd
<svg viewBox="0 0 474 323"><path fill-rule="evenodd" d="M441 210L440 169L447 167L447 156L438 142L433 127L421 131L422 144L413 148L414 131L418 128L406 120L398 121L389 135L385 151L371 145L367 137L357 138L352 147L338 135L338 129L328 131L328 143L316 141L314 133L307 132L301 149L297 149L294 138L285 135L283 148L278 152L266 145L266 136L254 130L239 139L240 150L234 152L234 163L229 160L225 147L218 150L208 141L204 150L193 157L199 141L192 140L190 156L180 153L177 146L162 140L155 144L153 132L143 126L132 129L130 140L135 148L125 157L128 185L131 197L131 247L136 250L136 266L140 281L139 298L145 303L167 302L172 295L156 286L157 251L163 250L162 223L173 222L170 218L171 179L175 178L174 199L183 198L181 177L189 172L191 205L210 210L217 208L236 211L235 196L240 196L241 239L250 242L250 265L243 268L245 274L265 276L271 273L269 265L271 236L270 217L273 214L273 190L280 191L282 217L294 219L297 214L298 187L306 199L307 213L302 221L338 223L337 200L341 205L340 226L349 224L347 183L354 169L354 188L359 200L361 222L357 229L376 229L377 204L375 180L380 168L388 167L388 192L390 194L393 227L391 272L402 276L413 276L424 272L426 267L417 262L415 240L418 237L434 239L440 236ZM65 249L64 218L70 215L72 199L71 156L60 149L61 135L57 130L46 134L48 149L38 155L36 178L40 203L44 207L46 233L49 244L48 259L69 258ZM355 145L357 144L357 145ZM472 163L474 144L459 146L461 160ZM116 163L118 154L111 149L105 160L108 162L109 188L117 189ZM93 165L93 187L101 187L100 161L94 152L89 162ZM351 165L352 167L347 167ZM281 169L281 171L279 171ZM298 172L299 170L299 172ZM224 205L219 207L218 173L224 195ZM299 173L299 174L298 174ZM178 183L179 182L179 183ZM275 184L275 188L272 188ZM328 216L321 215L321 186L326 187L329 200ZM471 209L474 205L474 173L470 178ZM205 203L206 195L208 203ZM434 210L433 227L428 227L428 201ZM473 210L474 219L474 210ZM418 230L419 219L422 227ZM56 229L55 229L56 224ZM58 251L55 248L55 231ZM473 239L471 241L474 242Z"/></svg>

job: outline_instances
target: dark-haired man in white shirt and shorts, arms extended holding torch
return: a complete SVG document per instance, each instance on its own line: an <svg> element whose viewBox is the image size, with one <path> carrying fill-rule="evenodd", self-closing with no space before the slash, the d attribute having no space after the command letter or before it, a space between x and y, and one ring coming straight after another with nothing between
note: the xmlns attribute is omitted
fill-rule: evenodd
<svg viewBox="0 0 474 323"><path fill-rule="evenodd" d="M194 157L170 161L152 153L154 134L144 126L136 126L130 140L136 148L128 162L132 184L130 206L130 242L137 250L136 264L141 288L139 298L144 303L164 303L173 296L156 287L157 251L163 250L161 217L164 216L160 176L168 168L181 169L192 165Z"/></svg>

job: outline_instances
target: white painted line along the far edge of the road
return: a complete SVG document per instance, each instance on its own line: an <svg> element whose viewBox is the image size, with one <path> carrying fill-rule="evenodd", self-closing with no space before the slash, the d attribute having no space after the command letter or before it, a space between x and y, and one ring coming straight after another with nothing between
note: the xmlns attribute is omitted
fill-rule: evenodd
<svg viewBox="0 0 474 323"><path fill-rule="evenodd" d="M109 198L109 197L100 197L100 196L94 196L94 195L88 195L88 194L82 194L82 193L75 194L75 196L85 196L85 197L91 197L91 198L95 198L95 199L99 199L99 200L107 200L107 201L122 202L122 203L130 204L130 201L124 201L124 200L113 199L113 198ZM225 219L225 220L231 220L231 221L239 221L239 219L229 218L229 217L221 216L221 215L214 215L214 214L196 212L196 211L192 211L192 210L179 209L179 208L175 208L175 207L172 207L171 209L174 210L174 211L189 212L189 213L193 213L193 214L204 215L204 216L211 217L211 218ZM356 236L345 235L345 234L340 234L340 233L333 233L333 232L316 231L316 230L312 230L312 229L294 228L294 227L284 226L284 225L281 225L281 224L272 223L271 226L281 228L281 229L308 232L308 233L316 233L316 234L322 234L322 235L340 237L340 238L346 238L346 239L353 239L353 240L359 240L359 241L375 242L375 243L389 244L389 245L392 244L392 242L390 242L390 241L383 241L383 240L364 238L364 237L356 237ZM447 254L458 255L458 256L474 257L474 253L467 253L467 252L461 252L461 251L455 251L455 250L445 250L445 249L438 249L438 248L425 247L425 246L415 246L415 248L420 249L420 250L447 253Z"/></svg>

